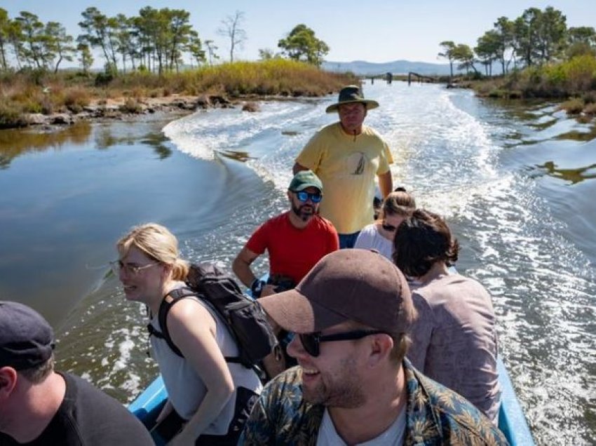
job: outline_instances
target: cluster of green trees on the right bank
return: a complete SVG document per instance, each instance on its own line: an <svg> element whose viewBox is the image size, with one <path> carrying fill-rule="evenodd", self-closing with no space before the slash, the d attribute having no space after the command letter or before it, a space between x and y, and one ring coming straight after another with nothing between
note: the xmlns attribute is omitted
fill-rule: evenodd
<svg viewBox="0 0 596 446"><path fill-rule="evenodd" d="M511 69L543 65L576 55L596 55L596 31L593 27L567 27L561 11L548 6L543 11L528 8L520 17L510 20L500 17L493 28L478 38L474 48L454 41L442 41L440 57L453 66L480 74L476 63L485 67L485 75L492 76L492 65L501 65L501 74Z"/></svg>

